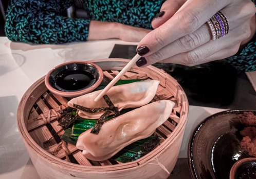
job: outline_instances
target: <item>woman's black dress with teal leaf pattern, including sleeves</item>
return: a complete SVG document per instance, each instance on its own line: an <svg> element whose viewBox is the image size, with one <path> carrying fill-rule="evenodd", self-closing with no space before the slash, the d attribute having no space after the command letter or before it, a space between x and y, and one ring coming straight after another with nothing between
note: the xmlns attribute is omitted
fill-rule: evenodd
<svg viewBox="0 0 256 179"><path fill-rule="evenodd" d="M74 0L10 0L5 32L12 41L66 43L86 41L90 20L152 29L151 20L163 0L84 0L88 19L62 15ZM253 1L254 2L254 1ZM226 58L239 71L256 71L256 36L235 55Z"/></svg>

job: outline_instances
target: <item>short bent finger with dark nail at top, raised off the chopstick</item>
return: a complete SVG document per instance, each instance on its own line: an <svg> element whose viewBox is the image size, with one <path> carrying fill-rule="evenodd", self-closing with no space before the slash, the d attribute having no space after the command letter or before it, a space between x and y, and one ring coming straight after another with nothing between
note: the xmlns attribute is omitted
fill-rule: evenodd
<svg viewBox="0 0 256 179"><path fill-rule="evenodd" d="M165 23L186 2L186 0L167 0L161 6L159 14L152 20L154 29Z"/></svg>

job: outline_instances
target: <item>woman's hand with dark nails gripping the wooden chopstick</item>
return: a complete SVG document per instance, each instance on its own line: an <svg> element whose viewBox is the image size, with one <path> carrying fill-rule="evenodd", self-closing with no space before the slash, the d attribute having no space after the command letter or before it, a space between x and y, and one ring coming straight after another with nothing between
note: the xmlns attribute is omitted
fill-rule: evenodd
<svg viewBox="0 0 256 179"><path fill-rule="evenodd" d="M212 40L206 22L218 11L226 15L229 32ZM255 33L255 6L250 0L167 0L159 14L152 21L156 29L138 44L137 52L143 56L138 66L156 62L193 66L223 59Z"/></svg>

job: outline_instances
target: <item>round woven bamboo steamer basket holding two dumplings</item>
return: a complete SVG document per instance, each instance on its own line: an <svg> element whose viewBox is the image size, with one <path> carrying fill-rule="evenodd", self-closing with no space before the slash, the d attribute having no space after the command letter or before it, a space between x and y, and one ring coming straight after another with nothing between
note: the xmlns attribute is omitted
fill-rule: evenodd
<svg viewBox="0 0 256 179"><path fill-rule="evenodd" d="M98 64L104 78L110 80L129 60L109 58L92 62ZM18 129L41 178L168 178L177 162L187 123L189 104L186 94L173 77L154 66L134 66L122 79L159 80L154 100L175 102L170 118L155 131L162 138L160 144L136 161L120 163L89 161L76 146L56 138L44 143L54 134L60 137L64 133L58 125L57 111L67 107L69 99L50 93L42 77L27 89L17 109Z"/></svg>

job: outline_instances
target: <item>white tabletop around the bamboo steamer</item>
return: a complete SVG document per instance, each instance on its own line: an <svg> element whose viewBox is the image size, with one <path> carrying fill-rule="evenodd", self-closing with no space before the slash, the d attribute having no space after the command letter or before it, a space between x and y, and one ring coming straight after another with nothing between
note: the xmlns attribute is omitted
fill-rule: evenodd
<svg viewBox="0 0 256 179"><path fill-rule="evenodd" d="M39 178L16 126L17 106L28 87L60 63L108 58L115 44L137 43L110 39L30 45L0 37L0 178ZM190 178L186 158L191 132L206 117L223 110L226 109L189 106L179 159L169 178Z"/></svg>

